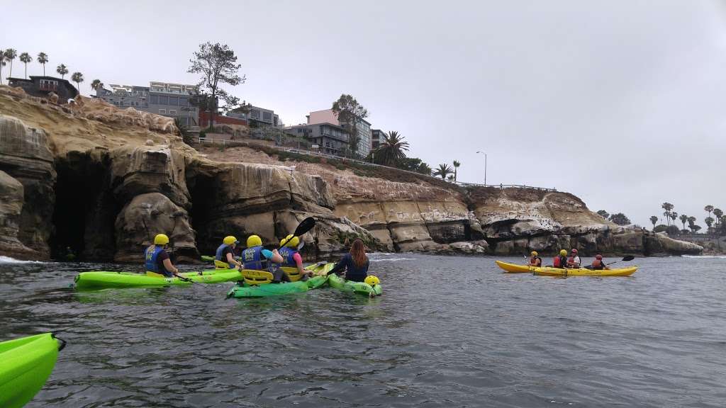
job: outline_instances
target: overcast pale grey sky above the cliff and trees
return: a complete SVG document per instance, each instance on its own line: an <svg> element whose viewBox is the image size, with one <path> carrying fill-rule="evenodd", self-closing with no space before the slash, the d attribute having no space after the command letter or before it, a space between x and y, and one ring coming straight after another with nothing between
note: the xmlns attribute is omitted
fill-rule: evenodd
<svg viewBox="0 0 726 408"><path fill-rule="evenodd" d="M192 52L219 41L248 77L232 93L287 124L349 93L411 155L460 160L460 181L483 181L484 150L490 184L557 187L641 225L664 201L704 227L704 205L726 210L722 3L154 3L13 1L0 47L80 70L88 94L94 78L196 83Z"/></svg>

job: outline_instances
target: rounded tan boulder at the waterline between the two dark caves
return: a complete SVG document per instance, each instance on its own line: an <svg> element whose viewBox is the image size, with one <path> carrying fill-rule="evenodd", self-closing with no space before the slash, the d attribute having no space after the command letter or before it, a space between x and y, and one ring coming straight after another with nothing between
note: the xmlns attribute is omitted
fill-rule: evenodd
<svg viewBox="0 0 726 408"><path fill-rule="evenodd" d="M199 258L187 211L158 192L134 197L118 214L115 230L115 261L141 261L156 234L168 235L169 247L178 260Z"/></svg>

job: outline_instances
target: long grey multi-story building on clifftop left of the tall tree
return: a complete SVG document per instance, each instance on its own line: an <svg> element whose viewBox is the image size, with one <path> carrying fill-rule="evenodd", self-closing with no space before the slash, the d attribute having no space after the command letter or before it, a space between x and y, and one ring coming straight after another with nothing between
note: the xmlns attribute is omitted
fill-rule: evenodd
<svg viewBox="0 0 726 408"><path fill-rule="evenodd" d="M96 97L118 107L179 119L183 126L199 126L199 109L189 102L199 92L196 85L150 82L149 86L111 84L109 89L98 89Z"/></svg>

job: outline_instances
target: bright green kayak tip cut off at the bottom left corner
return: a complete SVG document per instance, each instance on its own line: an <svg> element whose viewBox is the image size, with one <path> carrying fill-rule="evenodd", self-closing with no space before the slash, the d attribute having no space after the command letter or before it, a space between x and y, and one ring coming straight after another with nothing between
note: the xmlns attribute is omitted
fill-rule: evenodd
<svg viewBox="0 0 726 408"><path fill-rule="evenodd" d="M52 333L31 335L0 343L0 407L27 404L53 371L65 341Z"/></svg>

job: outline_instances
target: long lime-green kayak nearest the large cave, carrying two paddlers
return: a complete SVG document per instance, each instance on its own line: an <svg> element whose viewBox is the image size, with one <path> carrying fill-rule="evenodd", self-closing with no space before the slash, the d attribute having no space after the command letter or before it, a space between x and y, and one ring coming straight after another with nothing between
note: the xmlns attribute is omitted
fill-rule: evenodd
<svg viewBox="0 0 726 408"><path fill-rule="evenodd" d="M182 272L179 274L192 282L222 283L242 279L237 269L215 269L203 272ZM163 277L158 274L134 274L130 272L81 272L76 276L76 289L109 289L124 287L158 287L169 285L192 285L192 282L178 277Z"/></svg>

